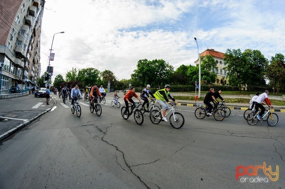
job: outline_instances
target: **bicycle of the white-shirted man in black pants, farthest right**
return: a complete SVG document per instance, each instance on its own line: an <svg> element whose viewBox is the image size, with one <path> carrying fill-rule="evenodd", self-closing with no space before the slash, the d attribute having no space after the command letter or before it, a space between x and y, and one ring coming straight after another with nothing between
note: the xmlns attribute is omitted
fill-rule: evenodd
<svg viewBox="0 0 285 189"><path fill-rule="evenodd" d="M262 115L261 120L257 118L257 115L261 110L259 110L257 113L249 113L246 118L247 123L250 125L255 125L258 121L262 122L266 120L269 126L275 126L278 123L278 115L276 113L272 113L270 109L272 109L271 106L268 107L267 112Z"/></svg>

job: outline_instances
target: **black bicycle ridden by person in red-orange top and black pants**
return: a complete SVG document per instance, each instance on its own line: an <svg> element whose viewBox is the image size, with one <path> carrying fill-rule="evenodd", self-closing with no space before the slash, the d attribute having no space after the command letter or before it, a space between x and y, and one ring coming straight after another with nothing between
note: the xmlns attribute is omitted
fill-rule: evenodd
<svg viewBox="0 0 285 189"><path fill-rule="evenodd" d="M143 124L143 113L137 108L137 104L140 104L140 102L132 103L131 111L127 111L126 106L123 106L121 109L121 115L125 120L127 120L132 115L132 113L134 113L134 121L136 121L138 125L141 125ZM125 111L126 113L124 113Z"/></svg>

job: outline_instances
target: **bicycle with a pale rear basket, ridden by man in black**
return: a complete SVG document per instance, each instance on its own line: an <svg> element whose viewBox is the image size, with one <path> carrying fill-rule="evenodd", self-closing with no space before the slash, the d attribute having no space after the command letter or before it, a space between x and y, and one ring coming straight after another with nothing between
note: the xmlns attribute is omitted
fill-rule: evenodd
<svg viewBox="0 0 285 189"><path fill-rule="evenodd" d="M203 102L197 102L197 107L195 109L195 117L198 119L203 119L205 116L209 117L209 115L207 114L208 108L209 107L207 105L204 105ZM214 118L217 121L222 121L226 117L225 111L221 108L217 109L212 108L212 111L210 113L214 115Z"/></svg>

